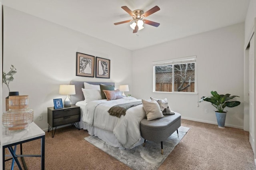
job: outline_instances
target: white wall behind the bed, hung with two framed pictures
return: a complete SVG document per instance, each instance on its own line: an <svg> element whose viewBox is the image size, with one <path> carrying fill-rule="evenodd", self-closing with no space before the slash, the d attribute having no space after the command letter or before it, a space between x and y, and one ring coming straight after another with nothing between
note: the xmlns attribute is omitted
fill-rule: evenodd
<svg viewBox="0 0 256 170"><path fill-rule="evenodd" d="M76 52L110 59L110 79L76 76ZM115 82L117 87L131 84L131 58L130 50L4 6L4 71L11 64L16 67L10 90L29 95L34 122L42 129L48 127L52 99L66 98L58 94L60 84L71 80ZM3 85L2 98L7 96ZM38 121L39 115L43 121Z"/></svg>

